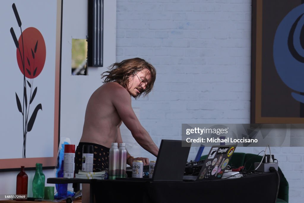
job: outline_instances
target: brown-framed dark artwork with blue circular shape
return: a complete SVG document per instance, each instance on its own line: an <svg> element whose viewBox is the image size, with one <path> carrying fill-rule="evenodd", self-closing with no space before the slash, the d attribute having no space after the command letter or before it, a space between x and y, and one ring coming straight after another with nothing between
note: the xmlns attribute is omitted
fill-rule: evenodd
<svg viewBox="0 0 304 203"><path fill-rule="evenodd" d="M304 4L253 0L251 123L304 123Z"/></svg>

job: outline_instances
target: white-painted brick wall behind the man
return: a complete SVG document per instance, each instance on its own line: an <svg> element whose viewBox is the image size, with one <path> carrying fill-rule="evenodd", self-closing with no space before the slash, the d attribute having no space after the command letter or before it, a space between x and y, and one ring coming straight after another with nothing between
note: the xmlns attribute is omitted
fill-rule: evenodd
<svg viewBox="0 0 304 203"><path fill-rule="evenodd" d="M133 100L157 145L181 139L182 123L250 122L250 0L117 0L116 31L117 61L140 57L157 69L153 93ZM272 149L289 202L304 197L303 150Z"/></svg>

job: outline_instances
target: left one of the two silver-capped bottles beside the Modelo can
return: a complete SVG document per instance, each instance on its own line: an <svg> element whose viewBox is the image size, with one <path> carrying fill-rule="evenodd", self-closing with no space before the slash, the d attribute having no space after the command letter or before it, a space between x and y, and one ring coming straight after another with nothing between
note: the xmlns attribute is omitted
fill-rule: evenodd
<svg viewBox="0 0 304 203"><path fill-rule="evenodd" d="M118 177L118 143L111 143L111 149L109 152L109 179L115 180Z"/></svg>

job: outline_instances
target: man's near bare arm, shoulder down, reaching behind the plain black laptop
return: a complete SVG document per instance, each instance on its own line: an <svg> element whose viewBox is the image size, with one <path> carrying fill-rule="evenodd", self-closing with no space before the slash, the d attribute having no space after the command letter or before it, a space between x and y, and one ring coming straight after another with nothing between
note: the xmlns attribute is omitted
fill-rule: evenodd
<svg viewBox="0 0 304 203"><path fill-rule="evenodd" d="M124 88L117 88L113 96L113 104L126 127L131 131L134 139L143 149L147 150L154 156L158 154L158 147L153 142L149 133L143 128L138 121L132 106L131 97Z"/></svg>

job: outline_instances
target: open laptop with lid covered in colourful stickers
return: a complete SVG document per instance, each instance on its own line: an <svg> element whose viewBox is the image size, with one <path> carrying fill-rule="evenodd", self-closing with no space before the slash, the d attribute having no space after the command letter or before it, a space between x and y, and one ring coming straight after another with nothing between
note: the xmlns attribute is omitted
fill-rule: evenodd
<svg viewBox="0 0 304 203"><path fill-rule="evenodd" d="M184 181L220 179L237 145L212 146L198 176L184 176Z"/></svg>

